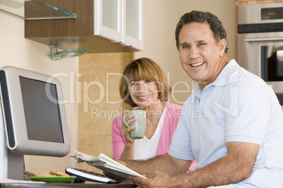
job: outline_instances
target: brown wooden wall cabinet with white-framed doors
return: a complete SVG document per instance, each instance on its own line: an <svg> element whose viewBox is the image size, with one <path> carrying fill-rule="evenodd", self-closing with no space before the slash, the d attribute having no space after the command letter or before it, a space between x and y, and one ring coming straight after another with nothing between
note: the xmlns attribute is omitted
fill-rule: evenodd
<svg viewBox="0 0 283 188"><path fill-rule="evenodd" d="M126 0L43 0L44 2L75 13L77 18L52 20L25 20L25 38L65 50L84 48L87 53L134 52L142 48L124 43L123 28ZM142 0L138 1L142 5ZM142 11L142 6L138 7ZM26 6L25 11L31 8ZM32 8L37 10L37 8ZM138 11L138 10L137 10ZM140 13L139 26L142 25ZM142 27L139 27L142 31ZM140 32L142 34L142 32ZM142 36L139 35L142 44ZM131 42L131 41L130 41ZM142 46L142 45L141 45Z"/></svg>

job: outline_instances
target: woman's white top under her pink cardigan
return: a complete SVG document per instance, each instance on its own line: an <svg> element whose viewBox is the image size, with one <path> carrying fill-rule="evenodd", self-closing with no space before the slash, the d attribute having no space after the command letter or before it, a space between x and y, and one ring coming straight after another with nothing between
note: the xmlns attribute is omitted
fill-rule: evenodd
<svg viewBox="0 0 283 188"><path fill-rule="evenodd" d="M161 131L165 119L166 107L164 107L158 126L151 139L144 136L142 139L134 141L134 160L150 159L156 156L156 151L161 137Z"/></svg>

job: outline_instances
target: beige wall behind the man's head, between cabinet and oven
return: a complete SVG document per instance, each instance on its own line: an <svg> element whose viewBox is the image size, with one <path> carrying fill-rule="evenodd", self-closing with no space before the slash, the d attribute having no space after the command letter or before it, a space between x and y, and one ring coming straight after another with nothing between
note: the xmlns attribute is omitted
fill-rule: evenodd
<svg viewBox="0 0 283 188"><path fill-rule="evenodd" d="M175 27L192 10L209 11L220 18L228 35L228 58L234 58L234 0L144 0L144 51L134 53L134 58L151 58L161 66L172 87L170 102L180 105L195 83L180 65Z"/></svg>

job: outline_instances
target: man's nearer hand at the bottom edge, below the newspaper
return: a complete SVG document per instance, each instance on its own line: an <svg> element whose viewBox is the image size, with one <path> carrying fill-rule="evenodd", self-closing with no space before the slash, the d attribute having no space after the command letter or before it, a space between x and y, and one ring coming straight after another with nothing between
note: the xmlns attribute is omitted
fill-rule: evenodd
<svg viewBox="0 0 283 188"><path fill-rule="evenodd" d="M149 175L146 175L147 178L130 176L130 180L137 184L139 187L170 187L172 183L172 176L161 171L155 171ZM175 184L176 186L177 184Z"/></svg>

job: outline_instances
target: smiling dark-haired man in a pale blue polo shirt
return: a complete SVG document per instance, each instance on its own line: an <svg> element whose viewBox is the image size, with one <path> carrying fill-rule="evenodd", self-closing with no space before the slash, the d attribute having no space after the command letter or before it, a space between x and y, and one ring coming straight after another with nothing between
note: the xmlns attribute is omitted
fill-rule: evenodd
<svg viewBox="0 0 283 188"><path fill-rule="evenodd" d="M183 15L175 37L181 65L198 86L168 154L120 161L148 177L131 180L139 187L282 187L283 114L275 93L227 60L226 32L215 15ZM194 160L194 172L185 174Z"/></svg>

